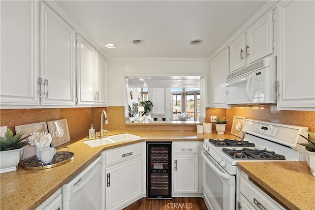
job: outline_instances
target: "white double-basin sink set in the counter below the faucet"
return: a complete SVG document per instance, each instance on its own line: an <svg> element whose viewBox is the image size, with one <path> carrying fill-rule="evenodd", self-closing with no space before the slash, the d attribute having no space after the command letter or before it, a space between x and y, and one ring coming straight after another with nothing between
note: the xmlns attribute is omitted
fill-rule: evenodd
<svg viewBox="0 0 315 210"><path fill-rule="evenodd" d="M140 138L141 136L136 136L130 133L123 133L123 134L108 136L101 139L87 140L83 142L89 145L90 147L98 147L98 146L108 145L108 144L117 143L117 142L132 141L132 140L136 140Z"/></svg>

